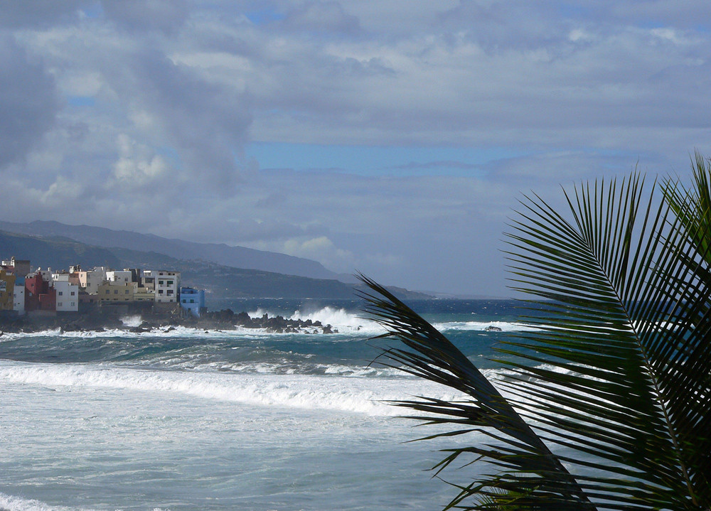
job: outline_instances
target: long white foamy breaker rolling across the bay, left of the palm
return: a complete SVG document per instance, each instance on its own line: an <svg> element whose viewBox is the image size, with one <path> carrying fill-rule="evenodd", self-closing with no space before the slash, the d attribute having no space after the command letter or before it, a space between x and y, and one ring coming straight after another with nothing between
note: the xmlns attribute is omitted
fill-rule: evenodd
<svg viewBox="0 0 711 511"><path fill-rule="evenodd" d="M113 365L0 362L0 381L43 387L170 392L265 407L393 415L383 401L428 395L454 399L449 389L416 379L316 375L244 375L138 370Z"/></svg>

